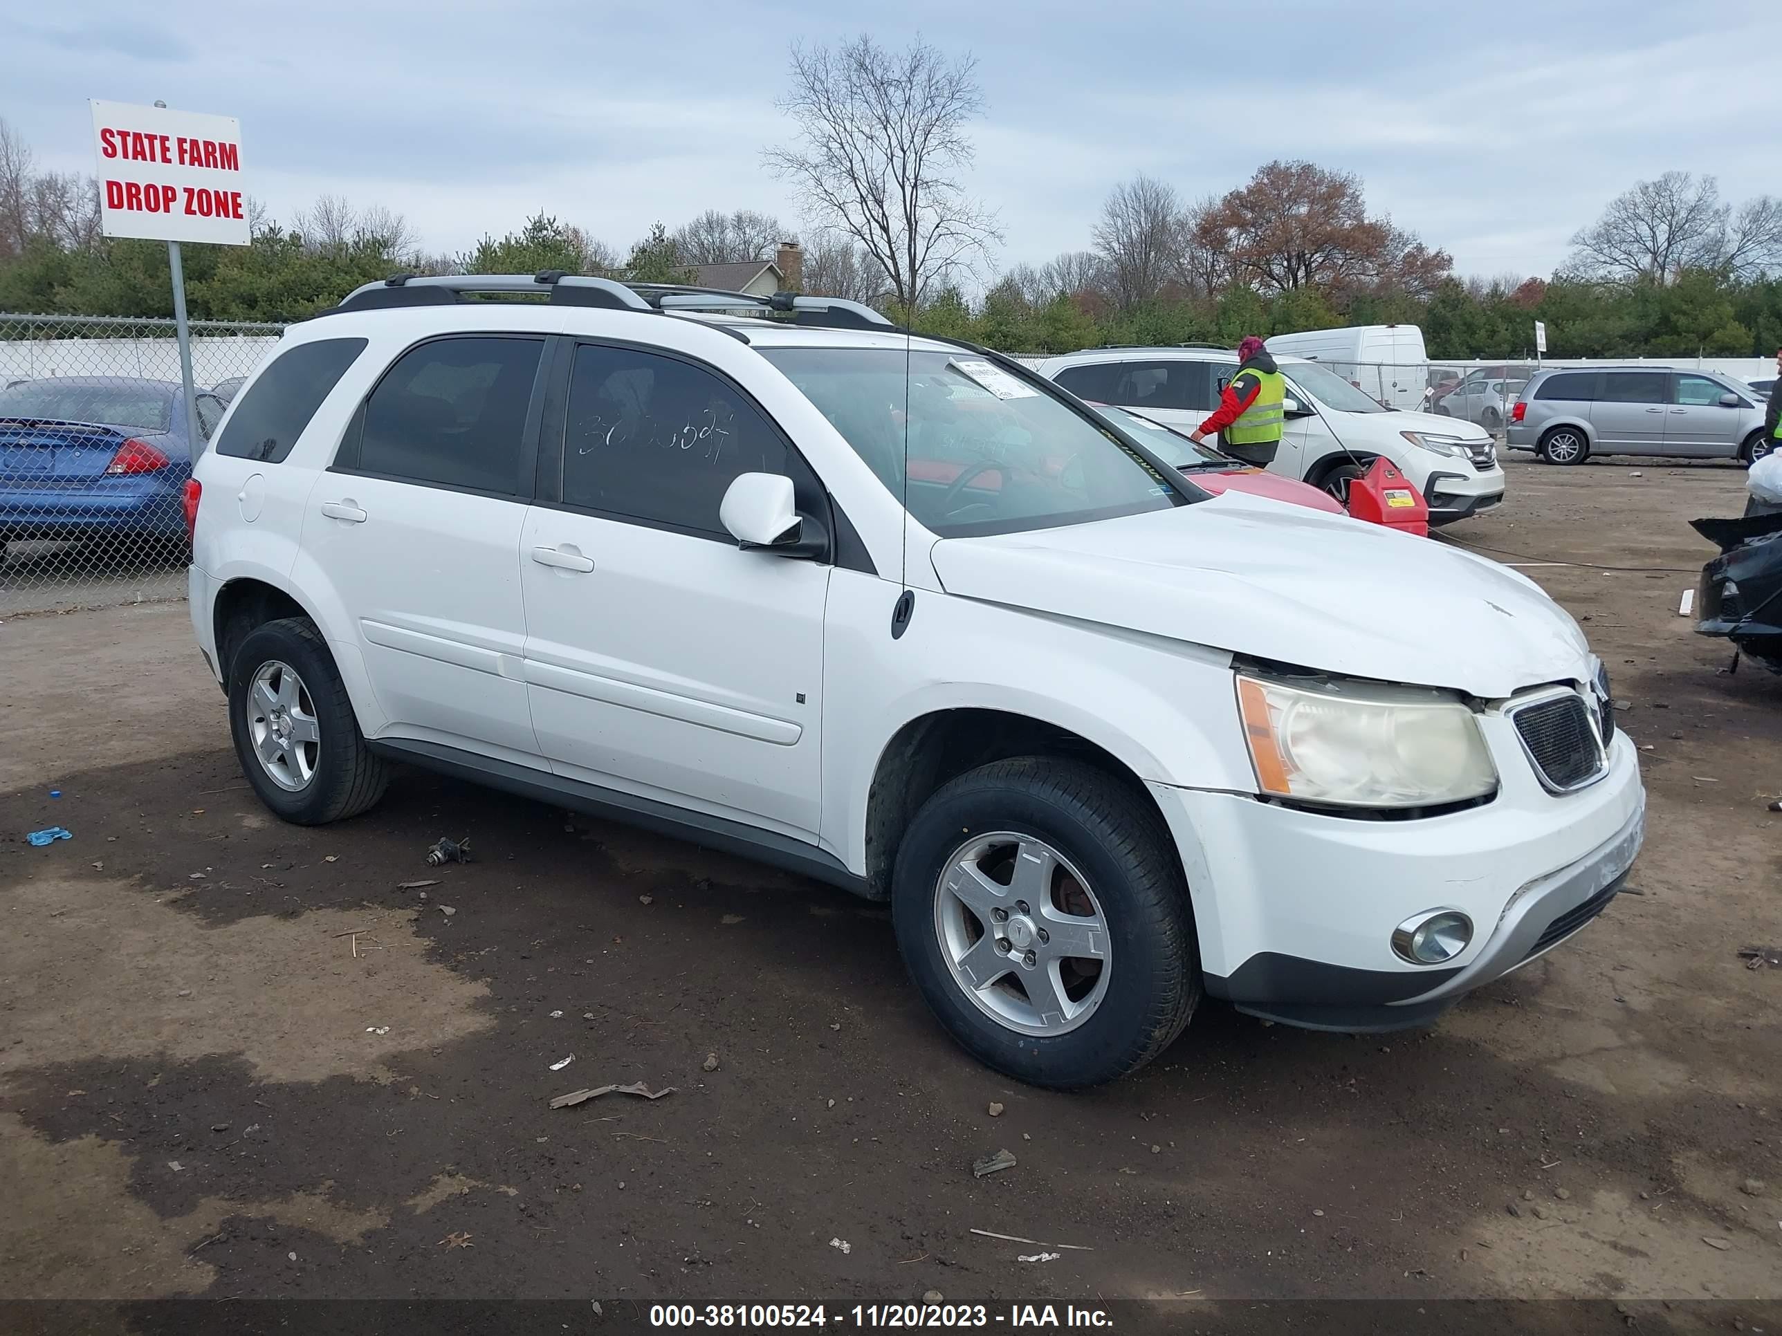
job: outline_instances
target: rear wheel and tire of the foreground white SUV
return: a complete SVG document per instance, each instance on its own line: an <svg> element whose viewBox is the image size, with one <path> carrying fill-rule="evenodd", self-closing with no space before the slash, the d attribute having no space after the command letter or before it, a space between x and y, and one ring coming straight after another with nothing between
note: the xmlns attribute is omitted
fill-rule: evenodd
<svg viewBox="0 0 1782 1336"><path fill-rule="evenodd" d="M388 770L365 746L314 622L289 616L255 627L228 675L235 757L274 816L319 827L358 816L383 796Z"/></svg>

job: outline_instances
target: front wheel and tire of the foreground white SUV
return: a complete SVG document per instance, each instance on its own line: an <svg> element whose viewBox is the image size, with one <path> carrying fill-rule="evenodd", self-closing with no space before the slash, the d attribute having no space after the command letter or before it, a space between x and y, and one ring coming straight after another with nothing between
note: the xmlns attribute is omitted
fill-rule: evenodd
<svg viewBox="0 0 1782 1336"><path fill-rule="evenodd" d="M1044 853L1055 860L1050 875L1016 882L1016 869ZM968 862L987 878L964 875ZM1009 882L993 887L1003 871ZM955 884L978 910L952 892ZM1051 903L1030 903L1035 891ZM998 923L1000 905L1007 917ZM1083 908L1099 928L1071 923ZM941 1026L978 1062L1028 1085L1076 1090L1137 1071L1181 1033L1201 998L1194 914L1167 828L1142 793L1075 761L998 761L943 786L898 846L891 916L903 964ZM1066 939L1099 960L1066 958ZM1028 949L1037 965L1026 964ZM1057 1008L1048 1015L1035 999Z"/></svg>

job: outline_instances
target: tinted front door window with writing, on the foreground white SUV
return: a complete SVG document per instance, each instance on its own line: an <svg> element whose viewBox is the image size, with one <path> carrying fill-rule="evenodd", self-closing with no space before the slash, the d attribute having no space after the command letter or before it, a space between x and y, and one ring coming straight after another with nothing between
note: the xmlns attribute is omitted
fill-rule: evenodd
<svg viewBox="0 0 1782 1336"><path fill-rule="evenodd" d="M756 404L679 358L576 349L563 436L563 504L715 534L738 474L786 474L804 460Z"/></svg>

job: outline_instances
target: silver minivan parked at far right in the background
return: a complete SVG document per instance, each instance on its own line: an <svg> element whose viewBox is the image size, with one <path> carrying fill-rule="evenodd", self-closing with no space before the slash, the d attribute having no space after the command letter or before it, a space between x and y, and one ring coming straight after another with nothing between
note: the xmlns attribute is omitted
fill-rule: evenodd
<svg viewBox="0 0 1782 1336"><path fill-rule="evenodd" d="M1713 371L1572 367L1540 371L1509 410L1506 445L1545 463L1591 454L1761 460L1764 406L1750 387Z"/></svg>

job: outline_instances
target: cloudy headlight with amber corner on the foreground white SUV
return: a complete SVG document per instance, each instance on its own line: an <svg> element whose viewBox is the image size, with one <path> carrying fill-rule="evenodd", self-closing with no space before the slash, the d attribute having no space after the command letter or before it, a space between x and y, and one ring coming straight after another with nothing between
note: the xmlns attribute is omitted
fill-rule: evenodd
<svg viewBox="0 0 1782 1336"><path fill-rule="evenodd" d="M1342 807L1436 807L1497 789L1472 711L1422 688L1237 679L1256 784Z"/></svg>

